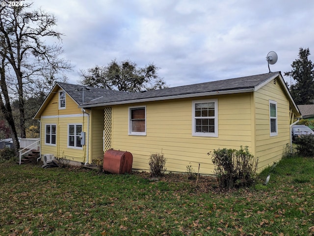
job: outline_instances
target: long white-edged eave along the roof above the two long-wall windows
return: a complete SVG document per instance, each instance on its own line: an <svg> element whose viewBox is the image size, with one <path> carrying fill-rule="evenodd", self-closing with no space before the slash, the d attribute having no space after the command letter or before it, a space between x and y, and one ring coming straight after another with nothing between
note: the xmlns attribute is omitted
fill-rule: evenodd
<svg viewBox="0 0 314 236"><path fill-rule="evenodd" d="M101 107L101 106L122 105L122 104L150 102L150 101L162 101L162 100L179 99L179 98L212 96L212 95L219 95L219 94L239 94L239 93L250 93L250 92L254 92L254 88L213 91L213 92L198 93L198 94L180 94L180 95L163 96L163 97L151 97L151 98L133 99L133 100L126 100L126 101L98 103L98 104L92 104L92 105L87 104L87 105L80 105L78 107L82 107L82 108Z"/></svg>

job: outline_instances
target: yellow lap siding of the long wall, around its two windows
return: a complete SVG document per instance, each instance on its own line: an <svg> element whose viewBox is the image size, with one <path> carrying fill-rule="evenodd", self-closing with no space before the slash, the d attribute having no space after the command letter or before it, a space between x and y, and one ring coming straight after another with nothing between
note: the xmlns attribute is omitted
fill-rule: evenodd
<svg viewBox="0 0 314 236"><path fill-rule="evenodd" d="M250 94L224 95L218 98L218 138L192 136L192 99L142 103L146 106L147 135L128 135L130 106L113 107L112 145L130 151L134 169L149 169L152 153L164 153L168 171L185 172L191 165L200 173L212 174L214 166L207 155L213 149L251 146ZM136 106L139 104L136 104Z"/></svg>

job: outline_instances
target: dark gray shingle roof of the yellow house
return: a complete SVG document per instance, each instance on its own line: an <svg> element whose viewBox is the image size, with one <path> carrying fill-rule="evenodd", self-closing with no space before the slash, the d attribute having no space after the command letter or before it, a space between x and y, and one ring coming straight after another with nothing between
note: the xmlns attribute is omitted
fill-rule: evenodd
<svg viewBox="0 0 314 236"><path fill-rule="evenodd" d="M253 89L256 86L262 84L266 80L268 80L271 77L276 76L276 74L280 74L280 72L271 72L271 73L265 73L265 74L258 74L258 75L252 75L252 76L245 76L245 77L239 77L239 78L233 78L233 79L226 79L226 80L218 80L218 81L211 81L206 83L200 83L200 84L192 84L192 85L185 85L185 86L179 86L179 87L173 87L173 88L166 88L166 89L160 89L160 90L152 90L152 91L146 91L146 92L138 92L138 93L126 93L126 92L119 92L119 91L111 91L111 90L104 90L104 89L95 89L95 94L91 94L90 97L85 96L85 103L81 102L82 100L82 91L80 92L71 92L71 95L76 99L78 104L80 104L82 107L92 107L92 106L100 106L100 105L109 105L112 103L123 103L128 101L140 101L144 99L154 99L154 98L175 98L176 96L180 95L186 95L186 94L204 94L204 93L210 93L210 92L227 92L228 91L240 91L245 89ZM61 83L60 86L62 86ZM71 91L74 90L74 87L77 86L77 88L81 88L82 86L79 85L71 85L70 88ZM64 84L64 89L66 85ZM93 95L93 96L92 96ZM94 96L95 95L95 96ZM93 100L97 98L96 100Z"/></svg>

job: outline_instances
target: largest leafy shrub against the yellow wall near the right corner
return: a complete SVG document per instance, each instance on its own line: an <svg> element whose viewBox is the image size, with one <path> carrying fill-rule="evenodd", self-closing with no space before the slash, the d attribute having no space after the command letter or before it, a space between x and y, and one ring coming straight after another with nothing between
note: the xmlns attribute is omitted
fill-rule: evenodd
<svg viewBox="0 0 314 236"><path fill-rule="evenodd" d="M247 146L244 149L241 146L240 150L214 150L211 160L221 188L243 188L254 184L258 158L254 158Z"/></svg>

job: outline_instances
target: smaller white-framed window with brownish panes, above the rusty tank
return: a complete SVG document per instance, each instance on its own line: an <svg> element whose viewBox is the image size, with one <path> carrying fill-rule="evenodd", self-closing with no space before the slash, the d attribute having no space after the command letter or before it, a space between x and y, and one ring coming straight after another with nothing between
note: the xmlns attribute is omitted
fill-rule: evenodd
<svg viewBox="0 0 314 236"><path fill-rule="evenodd" d="M146 107L129 108L129 135L146 135Z"/></svg>

